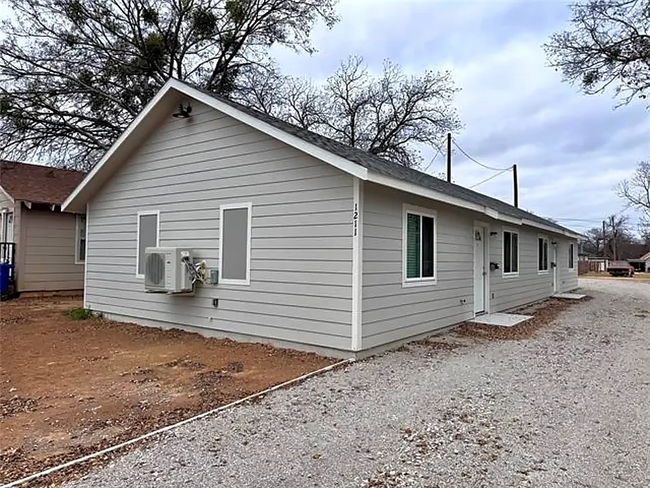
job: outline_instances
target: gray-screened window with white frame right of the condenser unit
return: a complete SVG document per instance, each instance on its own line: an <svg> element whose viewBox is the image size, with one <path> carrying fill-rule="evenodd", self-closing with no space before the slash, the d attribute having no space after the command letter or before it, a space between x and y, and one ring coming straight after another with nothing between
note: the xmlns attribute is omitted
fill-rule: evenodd
<svg viewBox="0 0 650 488"><path fill-rule="evenodd" d="M250 284L252 205L237 203L220 207L219 281Z"/></svg>

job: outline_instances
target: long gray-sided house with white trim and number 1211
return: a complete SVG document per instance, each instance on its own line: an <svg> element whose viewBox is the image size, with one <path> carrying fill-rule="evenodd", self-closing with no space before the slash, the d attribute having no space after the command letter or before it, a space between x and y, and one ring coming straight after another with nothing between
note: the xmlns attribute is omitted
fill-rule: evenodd
<svg viewBox="0 0 650 488"><path fill-rule="evenodd" d="M577 233L176 80L63 209L88 219L86 307L337 356L578 286ZM219 284L145 293L152 246Z"/></svg>

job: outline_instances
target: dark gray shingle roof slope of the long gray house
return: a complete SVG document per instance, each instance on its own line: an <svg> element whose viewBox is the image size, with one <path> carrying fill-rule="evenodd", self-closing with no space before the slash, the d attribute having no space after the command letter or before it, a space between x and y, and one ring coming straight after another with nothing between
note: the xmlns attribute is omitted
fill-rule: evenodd
<svg viewBox="0 0 650 488"><path fill-rule="evenodd" d="M370 171L374 171L376 173L385 176L397 178L399 180L406 181L408 183L413 183L423 188L429 188L431 190L439 191L449 196L460 198L467 202L475 203L478 205L484 205L493 210L496 210L499 213L508 215L510 217L527 219L533 222L537 222L538 224L543 224L548 227L557 229L559 232L575 233L575 231L563 227L561 225L558 225L557 223L551 220L544 219L530 212L526 212L525 210L521 210L520 208L517 208L513 205L510 205L496 198L483 195L482 193L472 191L468 188L462 187L460 185L456 185L454 183L449 183L440 178L436 178L435 176L422 173L421 171L406 168L405 166L394 163L392 161L388 161L387 159L384 159L375 154L371 154L362 149L358 149L358 148L348 146L346 144L342 144L328 137L322 136L320 134L316 134L315 132L303 129L293 124L289 124L287 122L284 122L283 120L272 117L270 115L259 112L257 110L251 109L240 103L234 102L232 100L228 100L226 98L217 96L213 93L206 92L204 90L201 91L203 91L204 93L206 93L211 97L216 98L221 102L224 102L236 108L237 110L240 110L248 115L251 115L274 127L277 127L278 129L284 132L292 134L310 144L313 144L316 147L324 149L325 151L328 151L332 154L347 159L348 161L363 166L364 168Z"/></svg>

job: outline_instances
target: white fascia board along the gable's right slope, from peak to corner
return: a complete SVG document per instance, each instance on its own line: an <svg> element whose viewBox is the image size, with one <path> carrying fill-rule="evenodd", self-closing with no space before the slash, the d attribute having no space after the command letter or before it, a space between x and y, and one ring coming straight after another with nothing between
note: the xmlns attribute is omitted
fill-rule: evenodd
<svg viewBox="0 0 650 488"><path fill-rule="evenodd" d="M204 103L205 105L208 105L209 107L212 107L215 110L218 110L219 112L222 112L235 120L238 120L242 124L253 127L254 129L257 129L260 132L263 132L266 135L277 139L278 141L284 142L285 144L306 154L309 154L310 156L313 156L314 158L319 159L325 163L328 163L352 176L356 176L362 180L365 180L368 177L368 170L363 166L332 154L325 149L321 149L307 141L304 141L299 137L283 131L282 129L278 129L271 124L267 124L266 122L253 117L252 115L248 115L247 113L244 113L241 110L228 105L227 103L217 100L207 93L203 93L200 90L192 88L191 86L188 86L176 80L171 80L170 83L171 86L179 92L187 95L188 97L194 98L195 100L198 100L199 102Z"/></svg>

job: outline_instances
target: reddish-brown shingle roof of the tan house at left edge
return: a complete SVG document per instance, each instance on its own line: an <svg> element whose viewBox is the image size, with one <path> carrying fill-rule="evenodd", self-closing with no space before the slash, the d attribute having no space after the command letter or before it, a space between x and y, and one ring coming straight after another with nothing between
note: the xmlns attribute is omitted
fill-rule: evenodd
<svg viewBox="0 0 650 488"><path fill-rule="evenodd" d="M0 187L14 200L61 205L84 176L69 169L0 161Z"/></svg>

